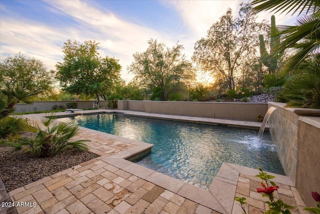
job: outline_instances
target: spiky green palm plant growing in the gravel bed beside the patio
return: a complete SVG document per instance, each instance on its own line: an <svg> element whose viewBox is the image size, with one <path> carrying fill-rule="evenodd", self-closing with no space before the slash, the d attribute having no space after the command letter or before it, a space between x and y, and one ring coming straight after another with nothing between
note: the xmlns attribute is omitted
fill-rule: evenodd
<svg viewBox="0 0 320 214"><path fill-rule="evenodd" d="M55 155L67 148L87 150L84 142L88 140L71 140L77 134L76 125L71 122L59 122L50 127L55 119L52 113L41 119L45 130L42 130L37 123L29 124L29 131L34 132L35 137L22 137L17 143L25 146L27 152L38 157Z"/></svg>

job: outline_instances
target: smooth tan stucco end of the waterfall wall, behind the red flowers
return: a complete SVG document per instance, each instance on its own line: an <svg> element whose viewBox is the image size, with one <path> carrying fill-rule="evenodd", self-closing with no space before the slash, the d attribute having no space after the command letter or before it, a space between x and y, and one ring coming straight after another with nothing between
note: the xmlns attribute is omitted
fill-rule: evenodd
<svg viewBox="0 0 320 214"><path fill-rule="evenodd" d="M307 206L316 207L311 191L320 193L320 127L299 120L297 146L296 188Z"/></svg>

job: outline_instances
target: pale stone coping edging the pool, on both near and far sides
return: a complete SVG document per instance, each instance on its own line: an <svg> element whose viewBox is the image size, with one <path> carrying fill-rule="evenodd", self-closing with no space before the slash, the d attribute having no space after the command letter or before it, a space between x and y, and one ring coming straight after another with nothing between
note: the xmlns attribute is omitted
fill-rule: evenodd
<svg viewBox="0 0 320 214"><path fill-rule="evenodd" d="M178 115L164 115L164 114L144 113L144 112L125 111L125 110L100 110L99 109L99 110L93 110L93 111L91 110L90 112L87 112L87 113L88 114L120 113L120 114L127 114L127 115L133 115L133 116L143 116L143 117L146 116L146 117L159 118L159 119L199 122L199 123L208 123L208 124L222 124L222 125L229 125L232 127L245 127L245 128L247 127L257 128L257 125L260 125L260 123L257 123L257 122L230 121L230 120L223 120L223 119L200 118L200 117L189 117L189 116L178 116ZM79 113L63 114L63 116L71 116L71 115L80 115L80 114ZM213 179L209 189L206 190L127 160L132 156L139 155L140 153L144 153L145 151L150 150L153 146L152 144L92 130L89 128L79 127L79 129L90 132L90 133L99 133L100 135L103 135L103 136L107 136L113 139L118 139L123 142L128 142L136 145L131 149L127 149L117 154L113 154L111 156L102 158L101 159L102 161L110 165L113 165L119 169L122 169L123 171L131 173L146 181L149 181L155 185L158 185L164 189L167 189L173 193L176 193L184 198L192 200L196 203L199 203L205 207L211 208L223 214L234 213L233 212L234 196L236 194L237 182L240 174L244 174L247 176L255 176L256 174L259 174L258 169L253 169L245 166L223 162L217 172L217 175ZM294 182L288 176L275 174L271 172L268 172L268 174L275 176L273 181L276 183L281 183L288 186L294 186Z"/></svg>

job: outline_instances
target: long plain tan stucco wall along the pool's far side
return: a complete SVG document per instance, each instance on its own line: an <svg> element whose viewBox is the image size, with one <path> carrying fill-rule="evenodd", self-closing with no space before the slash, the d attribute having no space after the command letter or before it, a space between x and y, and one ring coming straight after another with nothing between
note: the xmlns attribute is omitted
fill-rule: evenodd
<svg viewBox="0 0 320 214"><path fill-rule="evenodd" d="M119 110L255 121L265 115L266 103L170 102L118 100Z"/></svg>

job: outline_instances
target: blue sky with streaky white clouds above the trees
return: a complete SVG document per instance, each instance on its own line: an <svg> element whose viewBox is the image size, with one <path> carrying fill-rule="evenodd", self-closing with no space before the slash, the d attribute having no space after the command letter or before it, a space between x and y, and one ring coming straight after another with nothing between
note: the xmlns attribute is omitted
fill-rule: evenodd
<svg viewBox="0 0 320 214"><path fill-rule="evenodd" d="M134 75L127 67L133 54L144 52L149 39L184 47L186 59L194 43L230 8L234 17L247 1L77 1L0 0L0 61L18 53L40 60L48 70L62 62L67 40L99 43L101 57L114 57L126 82ZM259 13L257 22L269 12ZM295 18L275 14L277 25L293 25ZM200 77L201 78L201 77ZM203 76L202 76L203 79ZM200 80L201 81L201 80Z"/></svg>

